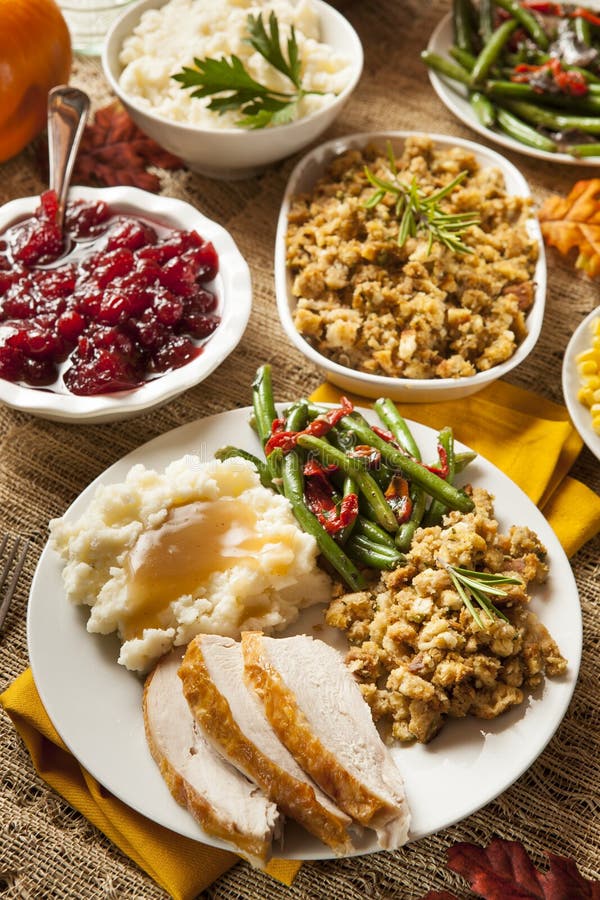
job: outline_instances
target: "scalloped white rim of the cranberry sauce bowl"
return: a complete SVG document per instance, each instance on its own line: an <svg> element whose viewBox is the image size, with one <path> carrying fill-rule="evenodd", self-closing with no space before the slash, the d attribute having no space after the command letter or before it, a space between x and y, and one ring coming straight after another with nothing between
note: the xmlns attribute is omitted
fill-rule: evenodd
<svg viewBox="0 0 600 900"><path fill-rule="evenodd" d="M73 187L69 199L104 200L117 212L138 214L180 228L196 229L215 245L219 274L215 291L219 297L221 322L202 345L202 353L189 363L139 388L112 394L80 396L23 387L0 378L0 402L33 415L58 421L100 422L126 418L163 404L207 378L235 349L242 338L252 307L250 270L232 236L190 203L151 194L134 187ZM39 204L39 196L21 197L0 207L0 231Z"/></svg>

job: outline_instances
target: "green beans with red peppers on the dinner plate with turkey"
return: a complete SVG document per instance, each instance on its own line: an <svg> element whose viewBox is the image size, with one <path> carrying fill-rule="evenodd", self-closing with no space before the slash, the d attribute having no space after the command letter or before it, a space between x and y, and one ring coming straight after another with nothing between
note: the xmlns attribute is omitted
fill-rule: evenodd
<svg viewBox="0 0 600 900"><path fill-rule="evenodd" d="M365 586L365 569L404 562L428 510L437 518L440 510L473 508L451 482L475 454L454 454L448 428L440 432L439 459L425 466L409 424L388 398L374 404L377 431L345 398L333 408L299 400L280 416L271 367L264 365L252 384L252 409L265 459L236 447L217 451L217 459L252 462L261 483L289 500L300 527L351 590Z"/></svg>

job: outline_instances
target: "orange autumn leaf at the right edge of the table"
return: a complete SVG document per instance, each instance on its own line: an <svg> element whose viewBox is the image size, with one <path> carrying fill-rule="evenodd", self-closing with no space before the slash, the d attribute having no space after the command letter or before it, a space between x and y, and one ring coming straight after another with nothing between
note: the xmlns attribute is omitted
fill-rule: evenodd
<svg viewBox="0 0 600 900"><path fill-rule="evenodd" d="M549 246L565 256L578 249L576 267L600 275L600 178L578 181L568 197L549 197L538 218Z"/></svg>

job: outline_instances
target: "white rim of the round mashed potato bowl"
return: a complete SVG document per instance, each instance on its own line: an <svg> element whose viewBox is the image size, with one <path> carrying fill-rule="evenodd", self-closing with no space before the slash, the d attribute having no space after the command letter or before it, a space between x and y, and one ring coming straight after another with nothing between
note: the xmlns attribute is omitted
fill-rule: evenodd
<svg viewBox="0 0 600 900"><path fill-rule="evenodd" d="M336 94L335 99L332 100L331 103L329 103L327 106L322 107L321 109L315 110L315 112L309 113L309 115L307 116L303 116L301 119L295 120L294 122L288 122L283 125L276 125L272 128L206 128L193 122L176 122L173 119L169 119L167 116L161 116L158 113L153 112L153 110L148 109L145 106L141 106L139 105L139 103L136 103L136 97L132 94L127 93L127 91L124 91L119 84L118 76L115 73L115 67L111 62L111 57L114 52L114 59L116 60L118 65L118 52L115 51L113 45L118 33L123 27L123 23L125 22L125 20L129 18L131 18L132 20L136 18L139 19L138 12L141 15L141 13L146 12L147 9L158 9L160 6L164 6L167 2L168 0L139 0L139 2L127 7L126 11L119 16L119 18L113 23L107 33L102 49L102 68L104 70L107 81L110 84L110 87L123 103L131 106L132 109L135 109L142 115L147 116L157 124L167 125L169 128L173 128L175 131L193 131L198 135L222 135L223 137L232 137L233 135L236 135L237 137L244 136L244 138L254 141L262 140L265 135L273 134L274 131L276 131L278 135L291 135L294 131L304 130L304 127L309 127L311 123L315 122L321 117L326 118L334 110L341 107L348 100L350 94L354 91L362 74L364 65L364 51L362 42L355 28L345 16L338 12L337 9L334 9L332 6L330 6L329 3L326 3L325 0L312 0L319 11L319 18L321 18L322 16L328 16L330 22L335 23L336 25L336 33L339 33L338 29L343 30L344 38L347 38L353 45L352 53L349 56L352 75L348 84L340 91L339 94ZM135 24L137 24L137 22ZM135 27L135 25L133 27ZM121 41L122 40L123 39L121 39Z"/></svg>

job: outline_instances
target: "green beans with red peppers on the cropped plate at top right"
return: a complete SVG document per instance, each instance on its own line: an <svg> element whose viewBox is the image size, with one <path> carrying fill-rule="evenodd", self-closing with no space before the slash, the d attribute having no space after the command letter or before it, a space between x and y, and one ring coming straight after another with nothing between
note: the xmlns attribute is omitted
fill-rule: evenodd
<svg viewBox="0 0 600 900"><path fill-rule="evenodd" d="M576 5L454 0L448 56L424 63L469 100L476 120L527 147L600 156L600 16ZM568 48L568 49L567 49Z"/></svg>

